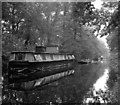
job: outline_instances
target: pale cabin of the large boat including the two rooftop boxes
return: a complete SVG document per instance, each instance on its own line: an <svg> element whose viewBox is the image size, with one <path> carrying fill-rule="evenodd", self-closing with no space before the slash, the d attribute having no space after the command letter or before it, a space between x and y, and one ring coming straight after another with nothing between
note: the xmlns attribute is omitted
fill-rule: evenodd
<svg viewBox="0 0 120 105"><path fill-rule="evenodd" d="M37 46L35 52L13 51L10 55L10 61L46 62L73 59L75 58L72 54L59 53L58 46Z"/></svg>

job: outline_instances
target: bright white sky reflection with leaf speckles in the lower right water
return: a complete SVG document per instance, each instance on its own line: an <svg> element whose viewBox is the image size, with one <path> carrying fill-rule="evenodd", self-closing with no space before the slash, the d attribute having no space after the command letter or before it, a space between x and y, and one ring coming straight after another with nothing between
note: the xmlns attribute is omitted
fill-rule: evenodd
<svg viewBox="0 0 120 105"><path fill-rule="evenodd" d="M83 103L110 103L110 92L107 87L109 68L104 69L103 75L95 82L84 97Z"/></svg>

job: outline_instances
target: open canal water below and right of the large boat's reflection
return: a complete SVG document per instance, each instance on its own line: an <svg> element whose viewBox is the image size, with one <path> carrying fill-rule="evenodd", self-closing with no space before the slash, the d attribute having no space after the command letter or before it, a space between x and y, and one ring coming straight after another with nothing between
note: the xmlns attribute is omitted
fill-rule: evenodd
<svg viewBox="0 0 120 105"><path fill-rule="evenodd" d="M95 92L105 91L108 62L76 64L75 74L62 78L34 91L17 92L16 100L27 103L88 103ZM105 86L105 87L104 87ZM103 100L101 101L103 102Z"/></svg>

